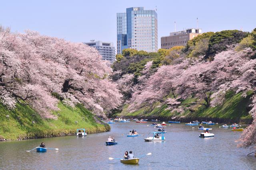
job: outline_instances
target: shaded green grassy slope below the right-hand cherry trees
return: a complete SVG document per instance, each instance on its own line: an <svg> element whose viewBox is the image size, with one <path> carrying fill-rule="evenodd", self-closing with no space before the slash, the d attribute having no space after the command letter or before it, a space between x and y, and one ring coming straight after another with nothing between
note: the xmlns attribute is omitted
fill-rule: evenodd
<svg viewBox="0 0 256 170"><path fill-rule="evenodd" d="M242 97L241 93L235 94L230 91L226 94L225 101L222 105L216 107L205 107L203 105L191 105L196 99L189 98L182 102L185 108L184 113L177 113L175 111L166 110L166 104L158 102L154 109L149 110L148 107L139 109L130 113L127 111L128 105L124 105L121 113L116 113L113 116L123 117L143 117L143 118L158 118L176 120L216 120L219 122L244 122L250 123L252 121L251 115L248 113L250 105L250 97L252 92L248 92L247 97Z"/></svg>

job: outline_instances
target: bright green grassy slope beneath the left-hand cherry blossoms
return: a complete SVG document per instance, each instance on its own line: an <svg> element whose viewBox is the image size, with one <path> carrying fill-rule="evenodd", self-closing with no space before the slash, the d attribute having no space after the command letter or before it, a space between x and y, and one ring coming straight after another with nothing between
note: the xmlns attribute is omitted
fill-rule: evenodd
<svg viewBox="0 0 256 170"><path fill-rule="evenodd" d="M27 105L17 104L16 108L10 111L0 104L0 138L17 140L74 135L78 128L86 128L88 133L110 130L108 124L99 121L80 104L70 108L60 102L58 107L60 110L54 112L58 119L52 120L42 119ZM6 115L9 115L9 118Z"/></svg>

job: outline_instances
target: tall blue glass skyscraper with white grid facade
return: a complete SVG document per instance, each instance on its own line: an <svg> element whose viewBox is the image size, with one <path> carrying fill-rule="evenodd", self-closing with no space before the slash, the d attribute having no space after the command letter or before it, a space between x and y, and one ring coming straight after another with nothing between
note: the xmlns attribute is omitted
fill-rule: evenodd
<svg viewBox="0 0 256 170"><path fill-rule="evenodd" d="M126 13L116 14L117 53L131 48L155 52L157 42L157 14L143 7L126 8Z"/></svg>

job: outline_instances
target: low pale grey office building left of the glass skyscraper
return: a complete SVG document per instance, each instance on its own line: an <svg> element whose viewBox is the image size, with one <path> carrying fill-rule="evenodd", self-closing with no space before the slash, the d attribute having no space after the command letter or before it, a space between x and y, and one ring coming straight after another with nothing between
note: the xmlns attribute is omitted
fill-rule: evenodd
<svg viewBox="0 0 256 170"><path fill-rule="evenodd" d="M107 60L111 63L116 60L116 51L113 43L92 40L90 43L84 44L89 45L90 47L95 47L102 56L102 60Z"/></svg>

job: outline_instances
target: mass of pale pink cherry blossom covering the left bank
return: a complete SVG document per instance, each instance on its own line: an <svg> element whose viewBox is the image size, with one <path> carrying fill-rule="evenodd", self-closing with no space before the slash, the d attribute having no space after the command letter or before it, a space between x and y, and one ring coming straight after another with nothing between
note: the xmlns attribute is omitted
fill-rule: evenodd
<svg viewBox="0 0 256 170"><path fill-rule="evenodd" d="M0 32L0 100L9 108L28 104L42 117L56 118L58 94L64 104L84 104L104 116L122 95L108 76L112 69L96 49L82 43L26 31Z"/></svg>

